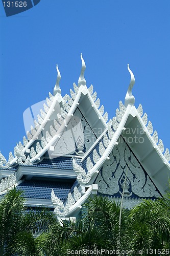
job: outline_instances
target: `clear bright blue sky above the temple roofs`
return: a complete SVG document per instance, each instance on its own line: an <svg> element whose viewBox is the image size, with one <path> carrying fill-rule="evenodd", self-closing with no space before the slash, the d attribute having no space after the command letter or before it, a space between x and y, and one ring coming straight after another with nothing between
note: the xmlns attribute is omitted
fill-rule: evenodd
<svg viewBox="0 0 170 256"><path fill-rule="evenodd" d="M62 95L78 81L80 53L87 86L115 116L135 75L135 105L143 105L164 146L170 148L170 2L41 0L6 17L0 5L0 150L8 159L25 135L23 112L53 92L58 64Z"/></svg>

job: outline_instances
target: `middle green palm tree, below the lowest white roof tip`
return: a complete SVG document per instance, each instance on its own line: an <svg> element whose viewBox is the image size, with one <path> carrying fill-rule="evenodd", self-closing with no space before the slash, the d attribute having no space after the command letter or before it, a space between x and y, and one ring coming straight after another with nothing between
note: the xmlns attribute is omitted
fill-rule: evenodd
<svg viewBox="0 0 170 256"><path fill-rule="evenodd" d="M122 211L122 231L119 230L120 205L106 197L94 196L84 205L82 219L76 223L63 221L39 237L45 255L88 255L89 251L117 249L119 236L125 227L127 212ZM67 251L69 250L69 251ZM74 254L75 253L75 254ZM104 253L102 254L104 255ZM107 253L108 255L108 253Z"/></svg>

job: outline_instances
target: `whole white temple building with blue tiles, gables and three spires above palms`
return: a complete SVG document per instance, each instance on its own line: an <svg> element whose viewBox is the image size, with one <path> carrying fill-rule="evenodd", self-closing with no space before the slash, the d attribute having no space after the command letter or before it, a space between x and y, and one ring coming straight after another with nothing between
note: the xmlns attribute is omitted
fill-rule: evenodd
<svg viewBox="0 0 170 256"><path fill-rule="evenodd" d="M34 120L14 148L9 160L0 153L0 196L16 186L28 207L45 205L60 218L81 215L92 194L121 200L131 208L141 199L153 199L169 191L169 150L153 130L142 105L135 107L132 71L125 105L108 121L93 86L86 86L85 62L78 86L61 96L57 82ZM0 197L0 199L1 199Z"/></svg>

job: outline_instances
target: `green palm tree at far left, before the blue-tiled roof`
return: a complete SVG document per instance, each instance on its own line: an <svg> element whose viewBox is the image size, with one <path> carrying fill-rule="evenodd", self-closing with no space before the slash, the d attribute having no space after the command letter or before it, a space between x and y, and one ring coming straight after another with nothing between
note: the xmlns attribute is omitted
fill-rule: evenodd
<svg viewBox="0 0 170 256"><path fill-rule="evenodd" d="M0 255L43 255L37 237L58 223L48 208L28 210L24 202L13 188L0 203Z"/></svg>

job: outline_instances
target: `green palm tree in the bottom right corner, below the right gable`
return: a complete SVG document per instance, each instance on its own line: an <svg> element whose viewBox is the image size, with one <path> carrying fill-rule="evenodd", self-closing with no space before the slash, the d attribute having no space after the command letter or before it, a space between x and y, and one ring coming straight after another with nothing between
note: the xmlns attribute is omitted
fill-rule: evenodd
<svg viewBox="0 0 170 256"><path fill-rule="evenodd" d="M144 200L130 211L123 237L127 249L143 250L142 255L148 255L149 250L160 255L162 249L170 249L169 199L167 195L156 201Z"/></svg>

